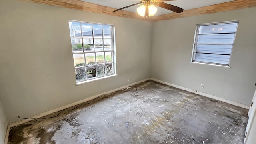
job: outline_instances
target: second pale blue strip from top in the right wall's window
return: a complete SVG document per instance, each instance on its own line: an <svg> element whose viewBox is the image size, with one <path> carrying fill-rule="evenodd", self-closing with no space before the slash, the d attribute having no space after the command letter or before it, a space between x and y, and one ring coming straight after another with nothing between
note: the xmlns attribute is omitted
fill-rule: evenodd
<svg viewBox="0 0 256 144"><path fill-rule="evenodd" d="M202 34L198 35L197 43L233 44L235 34Z"/></svg>

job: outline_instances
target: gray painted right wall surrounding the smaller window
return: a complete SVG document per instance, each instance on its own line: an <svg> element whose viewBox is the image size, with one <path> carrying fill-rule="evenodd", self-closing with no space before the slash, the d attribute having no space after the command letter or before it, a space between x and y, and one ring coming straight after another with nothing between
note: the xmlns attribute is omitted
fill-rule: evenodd
<svg viewBox="0 0 256 144"><path fill-rule="evenodd" d="M247 8L154 22L151 77L249 105L256 83L255 14ZM230 20L239 20L231 68L189 63L196 24Z"/></svg>

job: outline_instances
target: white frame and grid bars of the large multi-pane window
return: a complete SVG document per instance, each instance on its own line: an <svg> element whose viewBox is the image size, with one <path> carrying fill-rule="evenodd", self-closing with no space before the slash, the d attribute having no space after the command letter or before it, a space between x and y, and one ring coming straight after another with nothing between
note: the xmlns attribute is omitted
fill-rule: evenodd
<svg viewBox="0 0 256 144"><path fill-rule="evenodd" d="M96 81L96 80L102 80L104 78L110 78L112 76L117 76L116 75L116 49L115 49L115 34L114 34L114 25L112 24L100 24L100 23L94 23L94 22L83 22L83 21L76 21L76 20L69 20L68 22L79 22L80 25L82 26L82 23L87 23L87 24L91 24L92 25L92 37L90 37L89 39L92 39L93 40L93 43L94 43L94 39L102 39L102 47L104 47L104 39L111 39L111 50L100 50L100 51L95 51L95 44L93 45L93 51L86 51L84 50L84 39L85 38L88 38L88 37L84 37L83 36L83 32L82 32L82 27L81 27L81 36L80 37L72 37L70 36L70 40L72 39L81 39L82 40L82 48L83 48L83 51L78 51L78 52L75 52L72 50L72 43L71 43L71 50L72 50L72 55L74 54L84 54L84 66L79 66L79 67L76 67L75 64L74 64L74 69L76 68L80 68L80 67L84 67L85 70L86 70L86 79L83 79L83 80L76 80L76 85L80 85L80 84L83 84L83 83L87 83L87 82L92 82L92 81ZM110 38L104 38L104 32L103 32L103 27L102 27L102 38L95 38L94 37L94 31L93 31L93 24L97 24L97 25L107 25L107 26L110 26L111 27L111 30L110 30ZM97 61L96 61L96 53L99 53L99 52L104 52L104 65L105 65L105 74L104 75L101 75L101 76L98 76L97 74ZM105 59L105 52L112 52L112 62L106 62L106 59ZM95 56L95 64L94 65L89 65L89 66L95 66L96 67L96 76L95 77L91 77L91 78L88 78L87 77L87 66L86 66L86 56L85 54L89 54L89 53L94 53L94 56ZM74 57L73 57L73 60L74 60ZM112 73L111 74L107 74L106 73L106 64L112 64ZM100 64L102 65L102 64ZM76 70L75 70L75 75L76 75Z"/></svg>

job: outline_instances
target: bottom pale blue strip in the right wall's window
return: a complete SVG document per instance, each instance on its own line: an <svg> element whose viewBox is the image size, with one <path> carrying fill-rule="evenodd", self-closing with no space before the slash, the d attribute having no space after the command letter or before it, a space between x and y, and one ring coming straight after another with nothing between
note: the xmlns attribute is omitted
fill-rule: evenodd
<svg viewBox="0 0 256 144"><path fill-rule="evenodd" d="M228 64L229 58L227 55L196 53L195 61Z"/></svg>

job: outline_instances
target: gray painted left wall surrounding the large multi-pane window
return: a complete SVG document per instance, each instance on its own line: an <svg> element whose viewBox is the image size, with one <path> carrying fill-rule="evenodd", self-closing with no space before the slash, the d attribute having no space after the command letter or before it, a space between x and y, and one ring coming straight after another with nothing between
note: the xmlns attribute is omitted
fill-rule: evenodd
<svg viewBox="0 0 256 144"><path fill-rule="evenodd" d="M115 25L118 76L75 86L68 20ZM8 122L149 78L151 27L140 20L1 1L1 102Z"/></svg>

